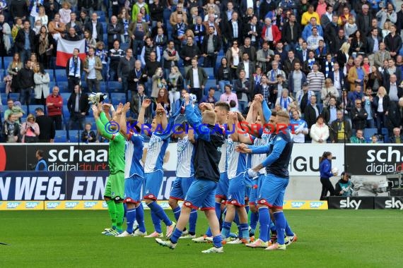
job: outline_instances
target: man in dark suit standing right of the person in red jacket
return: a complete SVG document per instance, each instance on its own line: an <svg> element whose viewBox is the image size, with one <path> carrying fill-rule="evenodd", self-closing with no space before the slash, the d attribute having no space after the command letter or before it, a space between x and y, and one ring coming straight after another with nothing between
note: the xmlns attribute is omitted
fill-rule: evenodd
<svg viewBox="0 0 403 268"><path fill-rule="evenodd" d="M88 104L88 95L86 93L81 93L80 85L74 86L74 92L71 93L69 100L67 101L67 109L69 109L70 112L67 130L83 129L84 119L88 114L90 104ZM77 124L78 128L75 128Z"/></svg>

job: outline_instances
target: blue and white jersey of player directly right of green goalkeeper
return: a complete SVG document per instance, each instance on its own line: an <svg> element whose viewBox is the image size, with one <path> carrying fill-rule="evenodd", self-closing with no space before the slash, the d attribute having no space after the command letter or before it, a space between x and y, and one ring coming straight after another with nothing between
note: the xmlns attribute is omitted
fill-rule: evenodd
<svg viewBox="0 0 403 268"><path fill-rule="evenodd" d="M144 178L144 169L141 164L143 157L144 138L136 133L131 133L124 148L124 178L137 175Z"/></svg>

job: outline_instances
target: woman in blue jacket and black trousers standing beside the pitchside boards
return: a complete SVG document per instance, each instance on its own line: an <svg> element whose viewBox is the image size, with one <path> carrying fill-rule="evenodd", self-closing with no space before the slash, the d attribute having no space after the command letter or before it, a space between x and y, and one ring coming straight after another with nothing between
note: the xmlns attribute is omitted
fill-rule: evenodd
<svg viewBox="0 0 403 268"><path fill-rule="evenodd" d="M330 196L336 195L334 186L330 178L338 175L338 171L332 173L332 152L324 152L319 161L320 183L322 183L322 193L320 193L320 200L326 200L327 192Z"/></svg>

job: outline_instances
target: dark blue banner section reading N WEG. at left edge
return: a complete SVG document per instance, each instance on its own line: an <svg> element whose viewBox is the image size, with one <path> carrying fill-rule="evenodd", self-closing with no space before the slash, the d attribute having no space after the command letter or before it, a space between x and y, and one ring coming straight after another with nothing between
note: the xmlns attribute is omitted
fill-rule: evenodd
<svg viewBox="0 0 403 268"><path fill-rule="evenodd" d="M0 172L0 200L64 200L64 172Z"/></svg>

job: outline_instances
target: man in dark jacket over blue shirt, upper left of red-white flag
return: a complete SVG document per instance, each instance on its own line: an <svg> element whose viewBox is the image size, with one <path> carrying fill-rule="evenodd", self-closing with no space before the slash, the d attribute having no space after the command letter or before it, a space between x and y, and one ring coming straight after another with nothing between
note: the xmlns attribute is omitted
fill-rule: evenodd
<svg viewBox="0 0 403 268"><path fill-rule="evenodd" d="M31 30L28 20L24 22L23 28L18 30L14 44L22 62L29 59L31 52L35 51L35 32Z"/></svg>

